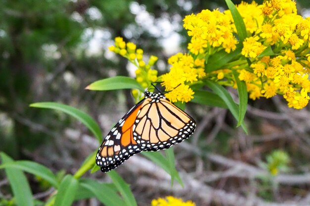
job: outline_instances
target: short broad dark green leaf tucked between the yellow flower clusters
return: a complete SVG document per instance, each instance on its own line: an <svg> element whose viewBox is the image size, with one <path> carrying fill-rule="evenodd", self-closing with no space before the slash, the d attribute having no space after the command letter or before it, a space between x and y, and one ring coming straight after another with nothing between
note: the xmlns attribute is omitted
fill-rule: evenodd
<svg viewBox="0 0 310 206"><path fill-rule="evenodd" d="M225 49L219 50L208 58L206 61L205 70L206 72L212 72L221 69L226 63L235 58L241 53L242 43L237 44L237 48L230 53L227 53Z"/></svg>

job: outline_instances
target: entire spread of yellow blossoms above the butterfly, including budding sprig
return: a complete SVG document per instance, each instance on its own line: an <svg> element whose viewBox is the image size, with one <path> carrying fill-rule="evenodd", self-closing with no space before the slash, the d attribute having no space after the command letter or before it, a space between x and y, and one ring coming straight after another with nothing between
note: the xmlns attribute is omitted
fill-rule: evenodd
<svg viewBox="0 0 310 206"><path fill-rule="evenodd" d="M193 99L191 87L204 79L236 87L232 74L235 70L239 72L239 79L246 82L251 99L279 94L289 107L302 109L310 99L310 18L298 15L295 4L294 0L239 4L237 9L247 32L241 53L220 70L207 74L205 64L210 56L221 51L231 53L239 43L230 10L205 9L186 16L183 26L191 37L189 53L171 56L168 60L170 71L159 78L157 72L150 69L157 57L152 56L146 64L142 60L143 51L121 38L116 38L115 46L110 49L137 66L137 82L144 88L159 79L167 91L166 97L172 102Z"/></svg>

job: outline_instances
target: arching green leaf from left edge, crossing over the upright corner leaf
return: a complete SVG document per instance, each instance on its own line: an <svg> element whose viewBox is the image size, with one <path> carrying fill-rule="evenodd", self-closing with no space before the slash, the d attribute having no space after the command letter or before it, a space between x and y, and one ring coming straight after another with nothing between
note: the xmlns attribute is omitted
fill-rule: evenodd
<svg viewBox="0 0 310 206"><path fill-rule="evenodd" d="M11 163L2 164L0 165L0 168L14 168L18 170L23 170L33 175L38 175L42 177L43 179L51 183L51 185L54 186L55 188L57 188L59 185L56 176L52 173L52 171L48 167L40 165L35 162L15 161Z"/></svg>

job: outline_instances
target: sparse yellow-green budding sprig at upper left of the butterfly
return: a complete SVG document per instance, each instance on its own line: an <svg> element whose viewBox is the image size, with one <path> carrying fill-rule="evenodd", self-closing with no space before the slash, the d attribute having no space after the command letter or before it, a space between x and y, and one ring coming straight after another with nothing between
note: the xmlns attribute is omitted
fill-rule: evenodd
<svg viewBox="0 0 310 206"><path fill-rule="evenodd" d="M152 82L157 81L157 70L151 69L158 59L156 56L151 56L148 64L146 64L143 60L143 50L141 48L137 49L137 45L133 42L126 43L121 37L115 38L115 46L110 46L109 50L127 58L137 67L135 72L136 80L143 88L148 88ZM133 93L136 92L138 91L133 91Z"/></svg>

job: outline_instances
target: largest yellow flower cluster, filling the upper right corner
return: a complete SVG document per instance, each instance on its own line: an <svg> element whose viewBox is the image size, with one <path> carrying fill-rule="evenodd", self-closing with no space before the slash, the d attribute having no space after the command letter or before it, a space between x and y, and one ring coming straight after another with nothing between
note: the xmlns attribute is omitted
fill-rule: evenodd
<svg viewBox="0 0 310 206"><path fill-rule="evenodd" d="M237 8L247 32L252 34L242 49L242 55L250 58L250 67L239 70L239 79L247 83L250 98L280 94L289 107L304 108L310 99L310 63L306 58L310 51L310 18L297 15L292 0L242 3ZM274 55L260 57L268 45L273 45Z"/></svg>

